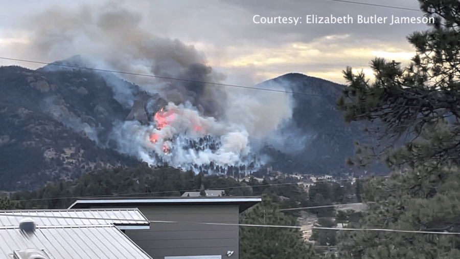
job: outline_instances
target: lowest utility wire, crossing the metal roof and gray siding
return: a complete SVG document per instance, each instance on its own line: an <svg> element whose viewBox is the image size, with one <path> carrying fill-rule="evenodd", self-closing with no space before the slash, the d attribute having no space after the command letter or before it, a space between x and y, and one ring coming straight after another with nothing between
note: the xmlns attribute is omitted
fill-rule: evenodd
<svg viewBox="0 0 460 259"><path fill-rule="evenodd" d="M70 210L72 211L72 210ZM113 219L113 218L85 218L85 217L65 217L54 215L17 215L0 212L0 216L6 217L21 217L21 218L51 218L51 219L75 219L75 220L103 220L103 221L127 221L127 222L149 222L149 223L187 223L187 224L202 224L202 225L219 225L219 226L243 226L243 227L277 227L277 228L305 228L303 226L283 226L283 225L255 225L255 224L237 224L237 223L213 223L213 222L193 222L193 221L154 221L154 220L131 220L131 219ZM96 225L97 226L97 225ZM2 226L11 227L11 226ZM40 226L39 226L40 227ZM460 235L460 232L433 232L433 231L415 231L415 230L400 230L400 229L382 229L382 228L329 228L329 227L309 227L311 229L324 230L349 230L349 231L386 231L400 233L418 233L418 234L453 234Z"/></svg>

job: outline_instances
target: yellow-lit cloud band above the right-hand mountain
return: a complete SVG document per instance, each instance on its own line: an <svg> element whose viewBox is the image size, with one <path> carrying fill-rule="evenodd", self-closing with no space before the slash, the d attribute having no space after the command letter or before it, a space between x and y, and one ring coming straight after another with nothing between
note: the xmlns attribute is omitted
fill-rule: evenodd
<svg viewBox="0 0 460 259"><path fill-rule="evenodd" d="M308 43L291 42L245 52L240 49L240 56L227 60L226 64L234 70L247 68L262 72L267 78L300 72L344 83L341 71L347 66L359 70L369 69L369 62L375 57L396 59L406 64L415 55L415 50L405 40L395 46L372 39L359 42L356 37L357 35L349 34L327 35ZM369 75L372 76L372 73Z"/></svg>

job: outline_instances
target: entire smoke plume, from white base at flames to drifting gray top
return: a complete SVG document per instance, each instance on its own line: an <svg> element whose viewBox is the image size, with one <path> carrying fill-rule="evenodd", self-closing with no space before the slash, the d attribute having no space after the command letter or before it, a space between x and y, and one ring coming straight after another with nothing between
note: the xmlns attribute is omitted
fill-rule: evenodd
<svg viewBox="0 0 460 259"><path fill-rule="evenodd" d="M139 13L116 6L88 6L75 11L55 8L31 20L30 44L16 51L37 60L81 55L66 64L132 73L117 76L140 85L150 93L150 99L137 100L129 84L112 74L100 74L125 108L130 109L137 100L137 105L143 104L148 116L154 117L148 122L116 120L110 139L120 152L150 164L167 162L196 171L206 165L215 171L219 166L248 168L264 162L264 158L255 156L262 144L273 143L294 151L293 146L302 148L302 141L292 140L298 133L289 133L286 126L292 116L290 94L203 83L221 82L225 77L206 66L204 54L193 46L142 29L142 18ZM286 90L282 84L264 87ZM161 98L153 97L156 93ZM160 99L168 104L159 105ZM159 106L163 110L158 111ZM50 109L57 114L55 110ZM88 126L78 123L82 124L78 119L67 122L77 130L86 129L91 139L96 138Z"/></svg>

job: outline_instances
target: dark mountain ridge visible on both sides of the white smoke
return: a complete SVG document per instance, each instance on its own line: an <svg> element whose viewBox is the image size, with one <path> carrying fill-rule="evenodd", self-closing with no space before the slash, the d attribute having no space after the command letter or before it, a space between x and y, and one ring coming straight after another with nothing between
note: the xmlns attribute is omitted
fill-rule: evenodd
<svg viewBox="0 0 460 259"><path fill-rule="evenodd" d="M80 62L78 57L75 60ZM140 126L151 123L167 101L113 74L48 66L37 70L0 67L0 189L34 189L107 166L141 163L117 151L120 143L110 136L112 129L126 121ZM350 173L344 161L353 155L356 134L351 133L356 133L359 125L344 125L335 110L335 99L344 85L299 73L260 85L269 82L282 84L294 93L320 96L292 95L292 120L284 125L291 135L285 139L306 145L291 154L266 145L261 155L271 159L264 167L286 173ZM292 128L296 131L290 131ZM306 140L306 133L311 139ZM218 171L234 174L233 168L244 167Z"/></svg>

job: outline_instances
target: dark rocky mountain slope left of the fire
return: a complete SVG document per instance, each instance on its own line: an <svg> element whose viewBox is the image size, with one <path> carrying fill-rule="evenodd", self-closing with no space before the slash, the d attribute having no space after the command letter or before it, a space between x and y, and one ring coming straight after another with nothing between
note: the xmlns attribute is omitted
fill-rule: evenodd
<svg viewBox="0 0 460 259"><path fill-rule="evenodd" d="M130 111L95 73L2 67L0 93L0 189L30 189L137 163L109 143L96 143L107 142L112 118Z"/></svg>

